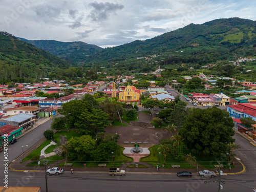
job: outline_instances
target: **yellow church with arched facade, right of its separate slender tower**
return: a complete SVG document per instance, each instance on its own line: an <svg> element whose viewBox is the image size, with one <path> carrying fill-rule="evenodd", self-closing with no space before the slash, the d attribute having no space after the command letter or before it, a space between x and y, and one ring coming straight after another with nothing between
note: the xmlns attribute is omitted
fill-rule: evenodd
<svg viewBox="0 0 256 192"><path fill-rule="evenodd" d="M124 102L138 102L140 100L140 90L134 86L127 86L119 93L119 101Z"/></svg>

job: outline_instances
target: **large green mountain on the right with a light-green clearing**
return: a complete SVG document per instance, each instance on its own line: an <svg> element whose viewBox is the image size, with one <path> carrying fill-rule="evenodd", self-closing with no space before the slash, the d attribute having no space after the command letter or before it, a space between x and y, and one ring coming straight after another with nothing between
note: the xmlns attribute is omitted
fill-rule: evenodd
<svg viewBox="0 0 256 192"><path fill-rule="evenodd" d="M115 62L151 55L166 55L172 62L207 62L255 56L256 22L249 19L216 19L201 25L190 24L152 39L106 48L87 62ZM181 54L182 51L182 54ZM179 53L177 53L179 52Z"/></svg>

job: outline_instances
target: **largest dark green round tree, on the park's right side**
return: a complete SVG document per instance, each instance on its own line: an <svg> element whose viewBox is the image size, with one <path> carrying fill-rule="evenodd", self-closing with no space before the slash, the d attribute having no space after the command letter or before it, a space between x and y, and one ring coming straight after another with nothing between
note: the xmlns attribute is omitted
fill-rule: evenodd
<svg viewBox="0 0 256 192"><path fill-rule="evenodd" d="M216 107L197 108L190 111L179 135L192 152L220 157L226 152L226 143L234 141L233 126L228 112Z"/></svg>

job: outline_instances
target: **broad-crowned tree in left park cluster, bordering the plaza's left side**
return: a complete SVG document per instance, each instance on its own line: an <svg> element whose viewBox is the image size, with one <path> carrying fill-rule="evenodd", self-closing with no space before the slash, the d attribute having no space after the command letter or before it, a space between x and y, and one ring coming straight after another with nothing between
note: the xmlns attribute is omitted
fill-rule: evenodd
<svg viewBox="0 0 256 192"><path fill-rule="evenodd" d="M84 134L97 136L99 132L104 132L104 128L110 124L109 115L101 110L93 109L82 112L78 116L78 121L74 124Z"/></svg>

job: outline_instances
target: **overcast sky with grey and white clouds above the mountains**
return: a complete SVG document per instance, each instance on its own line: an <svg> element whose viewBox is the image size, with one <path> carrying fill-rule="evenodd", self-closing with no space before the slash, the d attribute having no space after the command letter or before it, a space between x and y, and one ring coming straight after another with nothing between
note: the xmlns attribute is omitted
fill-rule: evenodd
<svg viewBox="0 0 256 192"><path fill-rule="evenodd" d="M100 47L144 40L218 18L256 20L251 0L2 0L0 31Z"/></svg>

